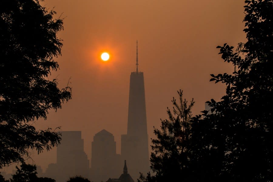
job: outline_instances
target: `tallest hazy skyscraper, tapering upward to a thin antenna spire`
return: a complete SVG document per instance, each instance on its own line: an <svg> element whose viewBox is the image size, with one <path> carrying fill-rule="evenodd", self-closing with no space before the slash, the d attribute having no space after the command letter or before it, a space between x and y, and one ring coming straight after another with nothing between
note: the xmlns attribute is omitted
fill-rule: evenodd
<svg viewBox="0 0 273 182"><path fill-rule="evenodd" d="M148 135L143 72L138 71L136 41L136 71L130 76L127 134L121 135L121 156L130 163L130 173L137 181L139 173L149 171Z"/></svg>

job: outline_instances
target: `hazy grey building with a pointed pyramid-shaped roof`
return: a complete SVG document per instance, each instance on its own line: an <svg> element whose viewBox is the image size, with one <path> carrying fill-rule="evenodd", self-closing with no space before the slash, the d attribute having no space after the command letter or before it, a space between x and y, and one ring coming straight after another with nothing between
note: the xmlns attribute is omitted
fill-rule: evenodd
<svg viewBox="0 0 273 182"><path fill-rule="evenodd" d="M103 129L95 134L91 145L90 179L100 182L111 176L118 176L122 169L122 160L120 154L116 154L113 134Z"/></svg>

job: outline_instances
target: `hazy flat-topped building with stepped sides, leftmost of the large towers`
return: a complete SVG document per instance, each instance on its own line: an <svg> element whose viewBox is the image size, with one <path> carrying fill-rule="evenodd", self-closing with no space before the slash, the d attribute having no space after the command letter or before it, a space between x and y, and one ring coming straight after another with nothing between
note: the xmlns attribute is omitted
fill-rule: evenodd
<svg viewBox="0 0 273 182"><path fill-rule="evenodd" d="M62 140L57 146L57 163L49 164L46 176L56 182L69 180L69 177L80 175L89 177L89 160L83 150L81 131L63 131Z"/></svg>

